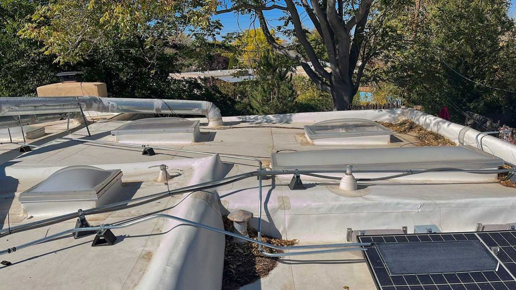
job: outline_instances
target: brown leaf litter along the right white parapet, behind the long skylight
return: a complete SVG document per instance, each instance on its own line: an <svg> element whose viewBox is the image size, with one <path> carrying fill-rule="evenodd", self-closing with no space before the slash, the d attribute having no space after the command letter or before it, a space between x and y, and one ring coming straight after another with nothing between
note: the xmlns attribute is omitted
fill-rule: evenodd
<svg viewBox="0 0 516 290"><path fill-rule="evenodd" d="M426 130L421 125L414 123L411 120L403 120L398 123L388 122L377 122L380 125L388 127L394 132L409 134L417 139L420 139L421 143L417 143L416 146L455 146L455 142L437 134L432 131Z"/></svg>

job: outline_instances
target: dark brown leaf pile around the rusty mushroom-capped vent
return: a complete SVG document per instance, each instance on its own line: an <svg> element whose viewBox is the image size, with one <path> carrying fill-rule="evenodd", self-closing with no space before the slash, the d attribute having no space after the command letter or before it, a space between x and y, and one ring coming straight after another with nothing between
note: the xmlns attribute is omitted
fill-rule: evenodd
<svg viewBox="0 0 516 290"><path fill-rule="evenodd" d="M233 232L233 222L223 216L224 229ZM249 237L257 239L257 231L247 227ZM296 239L285 240L262 236L262 241L276 246L293 246ZM269 253L281 253L280 250L263 248ZM278 257L266 257L260 254L258 245L237 243L232 237L225 236L224 270L222 275L222 290L238 289L257 279L266 277L278 264Z"/></svg>

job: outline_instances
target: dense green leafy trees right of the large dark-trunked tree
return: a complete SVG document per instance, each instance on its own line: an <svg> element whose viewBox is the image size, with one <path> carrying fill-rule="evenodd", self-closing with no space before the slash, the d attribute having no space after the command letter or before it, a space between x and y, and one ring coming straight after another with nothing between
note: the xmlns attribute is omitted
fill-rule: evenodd
<svg viewBox="0 0 516 290"><path fill-rule="evenodd" d="M375 62L379 78L393 83L407 102L452 117L460 110L500 112L516 90L514 20L506 0L422 1L389 22L405 40ZM469 78L471 80L468 80Z"/></svg>

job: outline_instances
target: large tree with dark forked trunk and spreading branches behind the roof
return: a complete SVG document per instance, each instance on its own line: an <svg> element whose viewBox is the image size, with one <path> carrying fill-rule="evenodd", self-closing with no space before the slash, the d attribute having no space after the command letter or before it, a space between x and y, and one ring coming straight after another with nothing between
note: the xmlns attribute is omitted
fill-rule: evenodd
<svg viewBox="0 0 516 290"><path fill-rule="evenodd" d="M226 2L227 1L227 2ZM396 0L225 0L221 13L252 14L272 50L299 62L299 65L319 89L329 92L335 110L345 110L357 93L367 62L388 42L381 40L385 33L382 24L386 18L408 1ZM299 10L304 10L320 35L328 55L328 65L321 61L307 37ZM278 43L270 33L264 11L285 13L283 27L293 27L293 35L303 52ZM395 38L391 38L395 39Z"/></svg>

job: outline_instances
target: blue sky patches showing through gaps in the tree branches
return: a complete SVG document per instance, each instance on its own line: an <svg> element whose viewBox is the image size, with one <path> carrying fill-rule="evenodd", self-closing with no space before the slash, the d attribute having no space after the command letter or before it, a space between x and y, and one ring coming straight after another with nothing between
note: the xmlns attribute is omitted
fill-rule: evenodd
<svg viewBox="0 0 516 290"><path fill-rule="evenodd" d="M512 5L510 8L510 15L511 17L516 17L516 0L511 0ZM310 19L308 19L307 14L302 11L302 9L299 9L300 17L303 23L307 26L307 28L313 28L312 22ZM274 28L277 25L281 24L281 21L278 20L283 13L279 10L272 10L272 11L264 11L265 17L269 23L269 27ZM240 15L239 17L233 16L233 13L225 13L221 15L217 15L216 19L220 19L222 22L222 25L224 27L222 28L221 34L225 35L227 33L235 32L235 31L242 31L245 29L253 28L253 19L249 18L246 15ZM256 22L254 24L256 28L259 28L259 22L256 19ZM281 36L280 36L281 37Z"/></svg>

